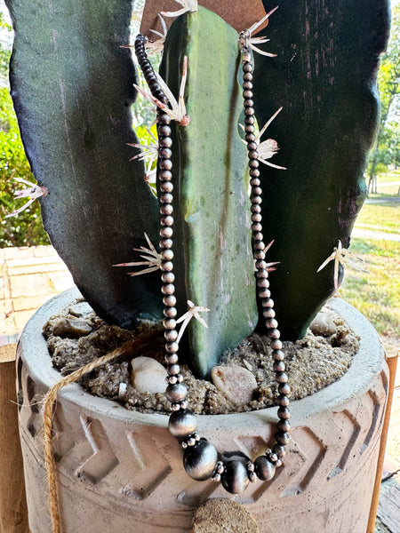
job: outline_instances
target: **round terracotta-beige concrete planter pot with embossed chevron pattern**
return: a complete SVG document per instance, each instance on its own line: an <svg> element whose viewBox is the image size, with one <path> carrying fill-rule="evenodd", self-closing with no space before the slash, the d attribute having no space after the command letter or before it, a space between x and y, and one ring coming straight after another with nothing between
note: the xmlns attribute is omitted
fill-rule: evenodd
<svg viewBox="0 0 400 533"><path fill-rule="evenodd" d="M20 436L31 533L51 533L40 400L60 379L42 337L44 322L76 298L52 298L28 322L19 345ZM330 306L361 338L346 375L292 402L284 468L240 497L262 533L364 533L372 499L388 389L383 348L370 322L340 298ZM125 410L74 384L59 394L54 450L63 532L183 533L196 506L228 497L219 484L192 481L182 466L168 418ZM276 408L198 417L198 432L217 449L257 457L266 448Z"/></svg>

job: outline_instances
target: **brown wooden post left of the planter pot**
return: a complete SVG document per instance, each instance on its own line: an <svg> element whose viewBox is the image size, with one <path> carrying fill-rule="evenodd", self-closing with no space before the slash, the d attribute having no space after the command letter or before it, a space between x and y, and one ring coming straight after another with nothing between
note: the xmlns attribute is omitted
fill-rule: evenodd
<svg viewBox="0 0 400 533"><path fill-rule="evenodd" d="M18 430L15 349L0 346L0 531L29 533Z"/></svg>

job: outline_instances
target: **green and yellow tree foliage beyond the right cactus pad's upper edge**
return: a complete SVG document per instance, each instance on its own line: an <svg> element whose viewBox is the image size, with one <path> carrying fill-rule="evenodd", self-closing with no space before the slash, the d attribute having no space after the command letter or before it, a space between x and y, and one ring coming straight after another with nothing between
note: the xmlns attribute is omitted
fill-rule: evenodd
<svg viewBox="0 0 400 533"><path fill-rule="evenodd" d="M377 174L400 164L400 4L392 11L388 50L378 74L380 91L380 129L368 165L368 192L377 192Z"/></svg>

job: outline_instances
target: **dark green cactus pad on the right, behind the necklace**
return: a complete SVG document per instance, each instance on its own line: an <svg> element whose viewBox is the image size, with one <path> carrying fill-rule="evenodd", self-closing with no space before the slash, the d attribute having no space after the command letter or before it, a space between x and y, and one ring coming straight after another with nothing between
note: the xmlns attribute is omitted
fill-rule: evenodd
<svg viewBox="0 0 400 533"><path fill-rule="evenodd" d="M260 165L264 235L275 239L267 260L281 262L270 276L276 318L294 339L332 295L333 264L316 270L339 239L348 247L364 203L388 2L284 2L260 35L277 56L254 54L256 116L262 126L284 106L263 139L277 140L273 162L287 167Z"/></svg>

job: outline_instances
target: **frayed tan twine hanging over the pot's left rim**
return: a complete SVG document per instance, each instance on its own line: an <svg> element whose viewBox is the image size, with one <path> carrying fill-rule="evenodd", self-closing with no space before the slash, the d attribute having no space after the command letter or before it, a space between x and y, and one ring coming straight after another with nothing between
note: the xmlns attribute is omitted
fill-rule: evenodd
<svg viewBox="0 0 400 533"><path fill-rule="evenodd" d="M74 383L85 374L89 374L92 370L97 369L107 362L113 361L118 356L123 355L132 350L139 339L128 340L122 346L119 346L112 352L99 357L95 361L88 362L83 367L72 372L65 378L60 379L52 386L44 396L43 409L43 424L44 424L44 466L47 473L47 487L48 487L48 502L50 507L50 514L52 517L52 531L53 533L61 533L61 519L60 519L60 505L57 493L57 473L55 459L52 453L52 416L54 413L54 404L57 399L57 394L64 386Z"/></svg>

